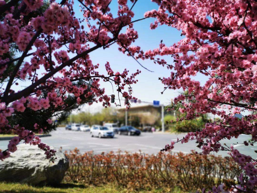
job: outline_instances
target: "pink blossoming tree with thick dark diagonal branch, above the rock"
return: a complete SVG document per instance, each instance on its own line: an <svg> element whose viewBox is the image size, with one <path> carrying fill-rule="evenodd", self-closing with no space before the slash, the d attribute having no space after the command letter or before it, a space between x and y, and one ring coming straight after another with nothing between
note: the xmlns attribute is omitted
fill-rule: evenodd
<svg viewBox="0 0 257 193"><path fill-rule="evenodd" d="M35 133L51 130L52 116L79 104L102 102L110 106L100 79L114 83L118 93L132 98L130 85L137 82L135 76L140 71L113 72L107 62L106 74L99 74L99 64L92 63L89 53L114 43L128 55L140 49L129 47L138 37L132 21L136 1L131 0L128 7L126 0L119 0L117 17L110 12L111 0L79 1L82 19L76 18L73 1L59 2L51 0L42 9L43 0L0 1L0 133L18 135L0 151L0 160L10 156L24 140L38 145L53 161L55 151L41 143ZM123 28L125 33L121 33ZM21 52L20 57L10 54L14 47ZM29 86L13 89L25 79Z"/></svg>

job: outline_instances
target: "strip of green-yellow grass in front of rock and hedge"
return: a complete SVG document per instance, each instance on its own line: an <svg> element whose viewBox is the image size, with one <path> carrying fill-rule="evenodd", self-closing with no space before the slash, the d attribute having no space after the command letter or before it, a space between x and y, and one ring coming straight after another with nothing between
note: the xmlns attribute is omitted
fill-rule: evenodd
<svg viewBox="0 0 257 193"><path fill-rule="evenodd" d="M106 186L86 186L82 184L75 184L75 183L61 183L57 187L50 187L50 186L44 186L44 187L33 187L26 184L20 184L20 183L0 183L0 192L6 192L6 193L15 193L15 192L21 192L21 193L64 193L64 192L87 192L87 193L125 193L125 192L132 192L127 189L122 188L115 188L111 185ZM154 191L140 191L140 192L173 192L173 193L179 193L180 191L178 189L174 191L167 190L154 190Z"/></svg>

